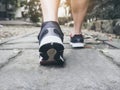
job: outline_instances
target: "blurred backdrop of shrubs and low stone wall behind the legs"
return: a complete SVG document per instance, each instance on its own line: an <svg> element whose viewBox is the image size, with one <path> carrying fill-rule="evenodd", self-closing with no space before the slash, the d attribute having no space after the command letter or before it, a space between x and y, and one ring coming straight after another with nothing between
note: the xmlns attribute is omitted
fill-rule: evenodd
<svg viewBox="0 0 120 90"><path fill-rule="evenodd" d="M61 0L58 16L61 25L73 27L70 0ZM12 23L10 21L40 26L42 22L40 0L0 0L0 27ZM90 0L83 28L119 36L120 0Z"/></svg>

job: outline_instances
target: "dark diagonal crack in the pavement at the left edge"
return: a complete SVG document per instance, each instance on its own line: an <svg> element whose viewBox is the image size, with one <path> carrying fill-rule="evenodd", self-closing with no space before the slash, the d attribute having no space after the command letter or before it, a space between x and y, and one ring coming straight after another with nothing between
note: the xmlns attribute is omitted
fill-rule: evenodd
<svg viewBox="0 0 120 90"><path fill-rule="evenodd" d="M18 51L18 52L16 52L16 54L10 56L5 63L3 63L3 64L0 65L0 70L1 70L3 67L5 67L6 65L8 65L11 61L15 60L15 58L18 57L18 56L21 55L21 54L22 54L22 51Z"/></svg>

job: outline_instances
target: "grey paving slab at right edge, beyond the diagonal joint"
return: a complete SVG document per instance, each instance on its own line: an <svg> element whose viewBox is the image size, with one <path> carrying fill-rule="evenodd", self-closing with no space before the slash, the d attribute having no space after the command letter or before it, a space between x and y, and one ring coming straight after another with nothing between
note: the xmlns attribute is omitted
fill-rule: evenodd
<svg viewBox="0 0 120 90"><path fill-rule="evenodd" d="M120 66L120 50L116 49L105 49L102 52L111 59L116 65Z"/></svg>

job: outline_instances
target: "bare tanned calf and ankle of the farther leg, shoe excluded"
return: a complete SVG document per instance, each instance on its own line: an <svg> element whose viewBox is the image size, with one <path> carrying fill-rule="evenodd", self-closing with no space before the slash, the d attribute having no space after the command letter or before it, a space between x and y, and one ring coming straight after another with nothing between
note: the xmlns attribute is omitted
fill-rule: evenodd
<svg viewBox="0 0 120 90"><path fill-rule="evenodd" d="M71 0L74 30L72 35L81 34L81 27L88 9L89 0Z"/></svg>

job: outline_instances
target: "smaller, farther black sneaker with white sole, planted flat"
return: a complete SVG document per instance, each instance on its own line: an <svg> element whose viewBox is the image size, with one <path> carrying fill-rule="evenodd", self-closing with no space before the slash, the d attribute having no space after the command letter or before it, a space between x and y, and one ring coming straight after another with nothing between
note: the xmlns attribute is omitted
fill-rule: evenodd
<svg viewBox="0 0 120 90"><path fill-rule="evenodd" d="M83 48L85 46L83 36L80 34L80 35L74 35L73 37L71 37L70 45L73 48Z"/></svg>

